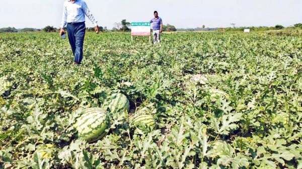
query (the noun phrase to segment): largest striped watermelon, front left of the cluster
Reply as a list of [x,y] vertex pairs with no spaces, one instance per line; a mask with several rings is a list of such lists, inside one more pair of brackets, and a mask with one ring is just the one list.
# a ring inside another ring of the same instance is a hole
[[96,141],[104,137],[109,127],[110,115],[101,108],[88,108],[82,112],[82,115],[73,125],[78,130],[79,139],[88,142]]

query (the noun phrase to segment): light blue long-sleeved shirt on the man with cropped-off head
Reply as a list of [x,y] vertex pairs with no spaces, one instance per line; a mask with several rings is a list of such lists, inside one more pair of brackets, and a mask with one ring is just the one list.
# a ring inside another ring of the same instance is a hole
[[70,0],[65,1],[61,28],[64,28],[66,23],[85,22],[85,15],[94,24],[94,26],[98,26],[98,21],[95,20],[91,14],[86,2],[82,0],[75,0],[74,3],[71,3]]

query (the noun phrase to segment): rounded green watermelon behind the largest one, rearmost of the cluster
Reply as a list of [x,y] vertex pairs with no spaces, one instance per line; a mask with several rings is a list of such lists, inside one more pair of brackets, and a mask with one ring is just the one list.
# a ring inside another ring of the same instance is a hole
[[112,114],[121,114],[129,111],[129,100],[121,93],[114,93],[111,95],[111,102],[108,105]]

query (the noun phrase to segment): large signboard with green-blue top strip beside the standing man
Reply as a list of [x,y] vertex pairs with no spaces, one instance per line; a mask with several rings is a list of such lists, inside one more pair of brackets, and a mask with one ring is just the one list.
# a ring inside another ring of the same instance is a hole
[[150,23],[148,22],[131,23],[131,36],[150,36]]

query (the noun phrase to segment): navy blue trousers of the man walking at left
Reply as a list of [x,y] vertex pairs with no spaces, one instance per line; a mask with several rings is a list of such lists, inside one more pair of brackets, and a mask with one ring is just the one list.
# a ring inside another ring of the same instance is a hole
[[85,37],[85,22],[67,24],[68,40],[74,56],[74,62],[81,64],[83,59],[83,45]]

